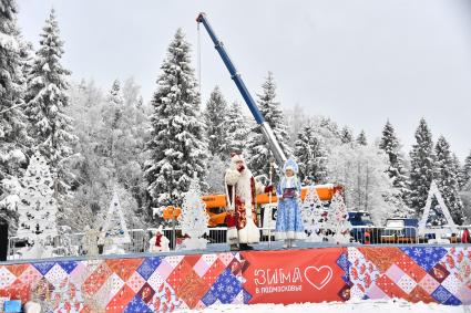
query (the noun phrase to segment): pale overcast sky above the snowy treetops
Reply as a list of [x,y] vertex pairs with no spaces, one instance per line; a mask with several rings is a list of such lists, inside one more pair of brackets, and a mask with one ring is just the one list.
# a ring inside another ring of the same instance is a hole
[[[134,76],[145,100],[177,28],[193,44],[205,11],[254,94],[272,71],[284,106],[330,116],[371,142],[386,119],[409,152],[420,117],[462,159],[471,149],[471,1],[20,0],[19,24],[38,46],[54,7],[74,80],[107,90]],[[205,31],[202,94],[242,100]],[[194,62],[196,66],[196,62]]]

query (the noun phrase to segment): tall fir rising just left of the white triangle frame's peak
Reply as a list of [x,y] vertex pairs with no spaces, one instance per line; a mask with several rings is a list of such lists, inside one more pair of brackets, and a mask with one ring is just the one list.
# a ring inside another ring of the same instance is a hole
[[433,179],[433,142],[432,134],[424,118],[416,131],[416,144],[410,152],[410,196],[409,207],[421,216]]

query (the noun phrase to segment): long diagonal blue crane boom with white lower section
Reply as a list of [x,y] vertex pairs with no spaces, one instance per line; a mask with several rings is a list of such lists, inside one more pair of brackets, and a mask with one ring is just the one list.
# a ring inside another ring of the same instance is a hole
[[275,137],[275,134],[273,133],[272,127],[269,124],[265,121],[264,116],[262,115],[260,111],[258,109],[257,105],[255,104],[254,98],[252,97],[250,93],[248,92],[247,87],[244,84],[244,81],[240,77],[240,74],[237,72],[234,63],[231,61],[229,55],[227,54],[226,50],[224,49],[224,44],[216,36],[216,34],[213,31],[213,28],[211,27],[206,14],[199,13],[196,18],[196,22],[203,23],[204,28],[206,29],[207,33],[211,36],[211,40],[214,42],[214,48],[216,48],[217,52],[221,55],[221,59],[223,59],[224,64],[226,65],[227,70],[231,73],[231,77],[233,79],[234,83],[236,84],[238,91],[240,92],[242,96],[244,97],[245,103],[247,104],[248,108],[252,112],[252,115],[254,116],[255,121],[262,128],[262,133],[265,135],[265,138],[267,139],[270,150],[275,156],[276,163],[278,166],[283,166],[283,164],[286,161],[285,153],[283,152],[281,147],[279,146],[278,140]]

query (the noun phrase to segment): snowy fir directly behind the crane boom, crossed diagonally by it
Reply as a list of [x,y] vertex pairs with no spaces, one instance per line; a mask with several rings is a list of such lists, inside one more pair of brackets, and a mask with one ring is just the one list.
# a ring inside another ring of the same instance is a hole
[[[281,149],[288,157],[291,155],[289,147],[289,138],[286,127],[285,116],[280,107],[280,103],[276,101],[276,84],[273,74],[268,72],[268,76],[262,85],[262,94],[258,96],[258,108],[265,121],[270,125],[275,137],[277,138]],[[269,173],[269,163],[273,154],[269,149],[268,142],[262,133],[260,127],[257,125],[252,129],[253,136],[248,143],[248,167],[254,175],[267,175]]]

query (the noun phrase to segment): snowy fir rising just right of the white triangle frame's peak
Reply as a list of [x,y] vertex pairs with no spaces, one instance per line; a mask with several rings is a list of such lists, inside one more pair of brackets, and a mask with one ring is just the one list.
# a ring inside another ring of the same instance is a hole
[[462,225],[464,221],[463,204],[459,196],[455,164],[450,150],[450,144],[443,136],[438,138],[434,153],[433,179],[437,181],[453,221],[457,225]]

